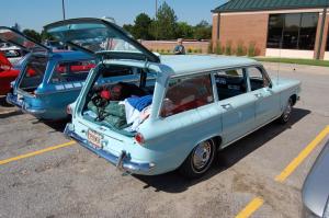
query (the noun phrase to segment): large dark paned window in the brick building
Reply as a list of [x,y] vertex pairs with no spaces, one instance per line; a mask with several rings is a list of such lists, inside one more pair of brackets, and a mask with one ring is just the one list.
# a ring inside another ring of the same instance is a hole
[[271,14],[268,48],[313,50],[318,13]]

